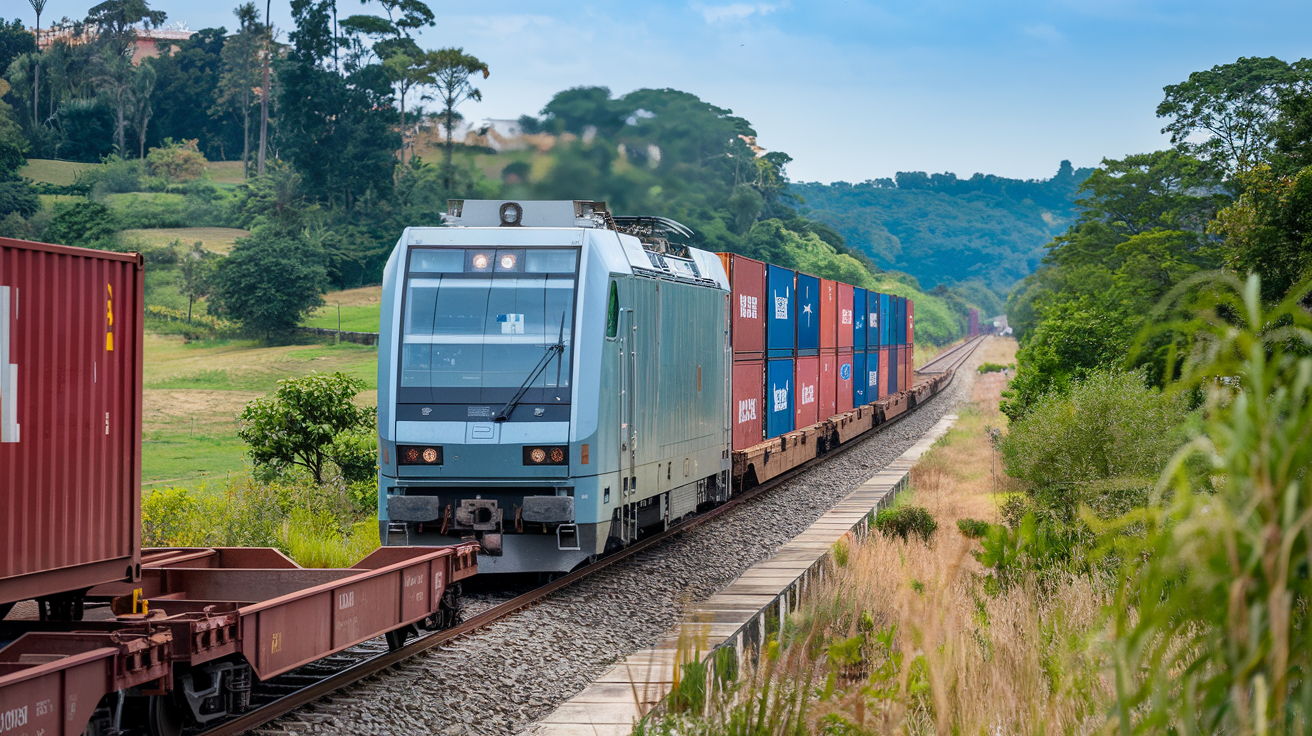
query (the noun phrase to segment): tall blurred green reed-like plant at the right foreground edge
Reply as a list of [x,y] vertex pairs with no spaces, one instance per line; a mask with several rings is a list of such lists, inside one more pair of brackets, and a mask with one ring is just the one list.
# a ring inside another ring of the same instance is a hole
[[1211,277],[1195,316],[1172,325],[1187,341],[1168,365],[1181,366],[1179,388],[1206,396],[1207,419],[1156,502],[1123,522],[1147,537],[1122,550],[1131,563],[1110,606],[1109,731],[1312,728],[1309,287],[1267,311],[1256,276]]

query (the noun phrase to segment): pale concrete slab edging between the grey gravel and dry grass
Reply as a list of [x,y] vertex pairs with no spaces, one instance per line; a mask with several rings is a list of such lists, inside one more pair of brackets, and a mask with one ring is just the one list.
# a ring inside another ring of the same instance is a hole
[[[768,627],[782,627],[807,589],[824,576],[834,543],[870,531],[874,512],[905,489],[911,468],[951,429],[945,415],[896,460],[862,483],[806,531],[769,559],[743,572],[728,586],[691,606],[685,623],[656,647],[625,657],[583,693],[569,698],[526,736],[627,736],[634,723],[669,694],[676,670],[698,640],[702,660],[728,649],[740,661],[757,653]],[[705,642],[705,643],[702,643]]]

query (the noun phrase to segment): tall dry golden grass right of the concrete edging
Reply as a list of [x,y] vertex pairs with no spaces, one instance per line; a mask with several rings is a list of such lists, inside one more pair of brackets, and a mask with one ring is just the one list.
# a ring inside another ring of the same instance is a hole
[[[975,361],[1013,362],[992,338]],[[917,463],[911,501],[938,521],[930,544],[878,533],[790,615],[761,666],[695,712],[642,733],[1089,733],[1114,702],[1098,631],[1107,592],[1084,579],[1001,586],[972,556],[962,518],[998,520],[1015,491],[985,432],[1002,426],[1005,379],[975,378],[959,421]],[[996,475],[994,475],[996,470]],[[714,690],[714,689],[712,689]]]

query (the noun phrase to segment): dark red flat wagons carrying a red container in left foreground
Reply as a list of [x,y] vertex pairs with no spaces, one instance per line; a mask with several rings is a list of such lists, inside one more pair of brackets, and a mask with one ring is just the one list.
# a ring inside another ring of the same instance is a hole
[[178,736],[375,636],[450,626],[478,547],[346,569],[140,546],[143,262],[0,239],[0,733]]

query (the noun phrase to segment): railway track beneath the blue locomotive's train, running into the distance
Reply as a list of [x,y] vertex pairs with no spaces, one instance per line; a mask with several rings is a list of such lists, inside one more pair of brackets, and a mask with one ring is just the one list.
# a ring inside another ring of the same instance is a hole
[[[937,356],[934,359],[929,361],[917,373],[947,373],[953,371],[955,378],[955,370],[964,363],[975,349],[983,342],[985,336],[977,336],[970,338],[960,345],[956,345],[942,354]],[[951,380],[949,382],[949,384]],[[943,386],[946,388],[947,384]],[[867,437],[883,433],[886,429],[895,426],[903,419],[912,416],[914,411],[904,412],[890,421],[880,424],[874,428]],[[260,728],[261,726],[283,716],[302,706],[314,703],[315,701],[331,695],[337,690],[341,690],[349,685],[357,684],[365,678],[379,674],[380,672],[396,665],[404,660],[408,660],[416,655],[420,655],[434,647],[454,642],[475,631],[479,631],[505,617],[509,617],[517,611],[527,609],[544,598],[550,597],[552,593],[568,588],[569,585],[594,575],[602,569],[610,568],[617,563],[635,558],[644,551],[651,550],[661,544],[663,542],[673,538],[674,535],[684,534],[690,529],[695,529],[705,525],[712,520],[716,520],[732,510],[758,499],[782,484],[798,478],[799,475],[815,468],[816,466],[837,458],[850,450],[851,447],[859,445],[861,442],[844,442],[833,450],[825,453],[821,457],[813,458],[792,470],[789,470],[770,480],[756,485],[739,496],[735,496],[727,504],[716,506],[707,510],[706,513],[698,514],[678,526],[648,537],[619,552],[610,556],[602,558],[596,563],[580,568],[569,575],[565,575],[552,583],[541,585],[520,594],[509,601],[500,605],[495,605],[484,611],[478,613],[468,621],[462,622],[458,626],[446,628],[443,631],[432,632],[424,635],[419,639],[405,643],[403,647],[392,651],[380,640],[366,642],[340,652],[325,660],[320,660],[299,668],[294,672],[283,674],[281,677],[273,678],[269,682],[264,682],[256,686],[252,693],[252,710],[241,714],[240,716],[224,720],[215,724],[207,729],[197,732],[195,736],[228,736],[245,733],[248,731]]]

